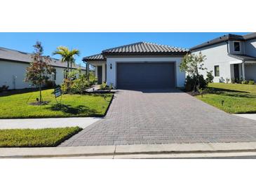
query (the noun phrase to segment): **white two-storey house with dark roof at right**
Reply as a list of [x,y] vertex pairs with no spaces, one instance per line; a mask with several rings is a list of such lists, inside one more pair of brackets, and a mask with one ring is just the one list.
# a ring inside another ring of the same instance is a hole
[[[206,55],[204,67],[213,71],[214,82],[226,79],[256,81],[256,33],[244,36],[227,34],[190,49]],[[206,76],[206,71],[202,71]]]

